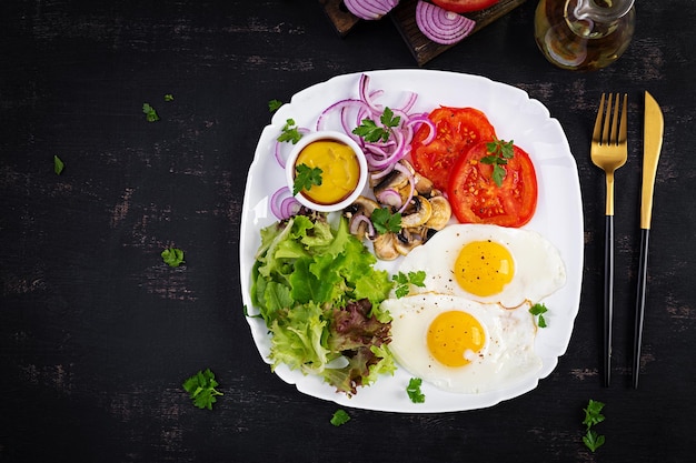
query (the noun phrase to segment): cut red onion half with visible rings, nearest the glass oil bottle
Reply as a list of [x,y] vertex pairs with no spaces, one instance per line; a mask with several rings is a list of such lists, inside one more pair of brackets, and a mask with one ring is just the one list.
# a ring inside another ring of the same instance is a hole
[[422,0],[416,4],[416,23],[424,36],[445,46],[457,43],[476,26],[476,21],[469,18]]

